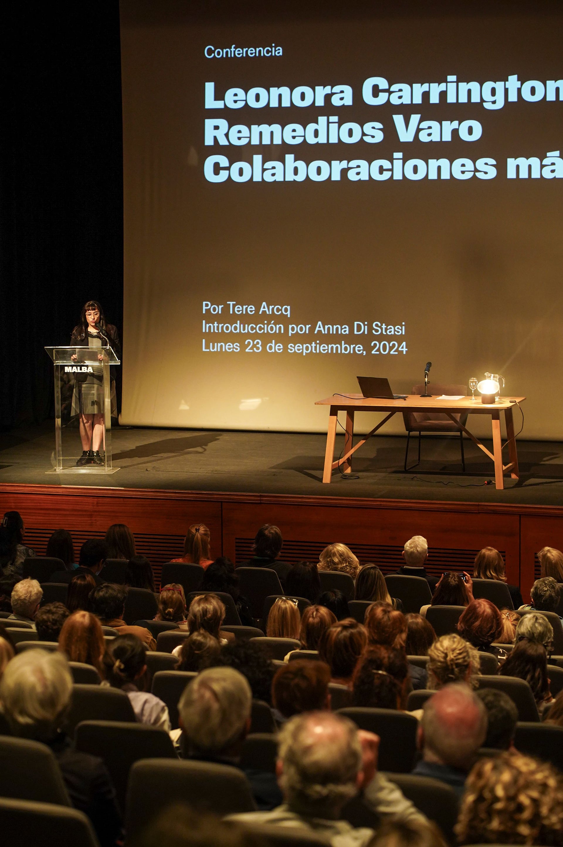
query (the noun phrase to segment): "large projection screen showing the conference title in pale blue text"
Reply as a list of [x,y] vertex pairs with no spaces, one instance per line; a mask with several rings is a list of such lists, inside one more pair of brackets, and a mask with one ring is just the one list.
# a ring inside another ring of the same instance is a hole
[[322,431],[432,361],[560,439],[563,17],[396,5],[122,3],[122,423]]

